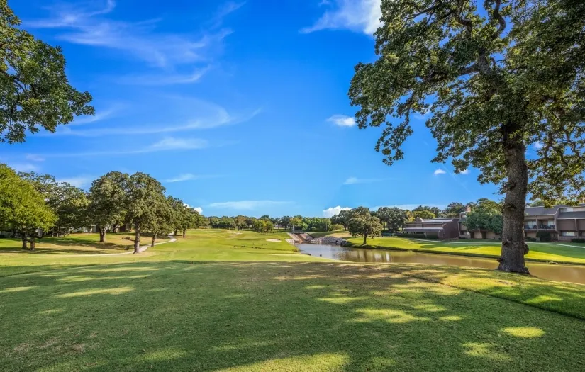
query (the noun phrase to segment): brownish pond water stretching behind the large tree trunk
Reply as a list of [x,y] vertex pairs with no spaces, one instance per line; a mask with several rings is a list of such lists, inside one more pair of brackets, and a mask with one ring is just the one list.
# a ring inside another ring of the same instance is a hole
[[[482,269],[496,269],[498,266],[495,259],[455,256],[454,254],[347,248],[329,244],[298,244],[296,247],[299,247],[302,253],[311,254],[311,256],[351,262],[450,265]],[[537,262],[527,262],[526,266],[530,269],[530,274],[539,278],[585,284],[585,266],[540,264]]]

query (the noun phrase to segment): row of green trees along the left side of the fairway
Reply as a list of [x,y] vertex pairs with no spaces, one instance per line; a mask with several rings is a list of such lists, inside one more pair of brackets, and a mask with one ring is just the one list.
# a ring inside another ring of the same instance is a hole
[[206,219],[183,201],[165,195],[159,181],[145,173],[112,171],[92,182],[89,192],[59,182],[49,174],[16,173],[0,164],[0,230],[19,235],[23,249],[35,249],[35,239],[46,234],[67,234],[95,225],[100,242],[106,232],[129,225],[135,234],[155,239],[206,224]]

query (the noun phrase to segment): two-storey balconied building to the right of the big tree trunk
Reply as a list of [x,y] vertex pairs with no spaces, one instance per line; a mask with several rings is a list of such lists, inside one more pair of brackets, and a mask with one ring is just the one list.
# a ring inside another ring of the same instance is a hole
[[550,232],[553,240],[570,242],[585,237],[585,204],[575,206],[555,205],[552,208],[526,207],[524,233],[537,237],[540,231]]

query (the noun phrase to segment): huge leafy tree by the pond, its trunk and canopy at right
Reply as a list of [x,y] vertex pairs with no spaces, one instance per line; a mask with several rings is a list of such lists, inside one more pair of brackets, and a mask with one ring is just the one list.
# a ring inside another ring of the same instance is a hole
[[403,158],[411,115],[430,111],[433,161],[475,167],[506,193],[498,269],[528,273],[528,190],[545,202],[585,196],[585,1],[477,3],[382,1],[379,59],[357,64],[349,96],[360,128],[386,125],[386,164]]

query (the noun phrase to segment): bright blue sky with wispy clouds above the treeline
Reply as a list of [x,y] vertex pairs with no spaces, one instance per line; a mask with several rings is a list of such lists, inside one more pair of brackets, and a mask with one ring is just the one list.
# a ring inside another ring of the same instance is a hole
[[[205,215],[330,215],[338,208],[444,206],[496,198],[477,171],[433,164],[417,117],[406,159],[374,151],[347,89],[374,60],[379,0],[11,1],[60,45],[96,115],[1,145],[0,161],[88,188],[146,172]],[[338,207],[338,208],[336,208]]]

